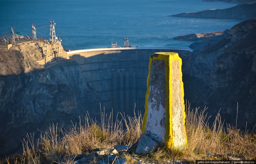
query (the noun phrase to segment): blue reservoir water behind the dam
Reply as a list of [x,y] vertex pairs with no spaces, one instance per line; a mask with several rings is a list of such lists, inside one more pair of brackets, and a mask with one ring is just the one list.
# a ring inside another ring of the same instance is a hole
[[178,18],[168,15],[223,9],[236,4],[201,0],[0,0],[0,34],[19,31],[49,38],[50,19],[64,48],[76,50],[124,46],[188,47],[172,37],[230,29],[244,19]]

